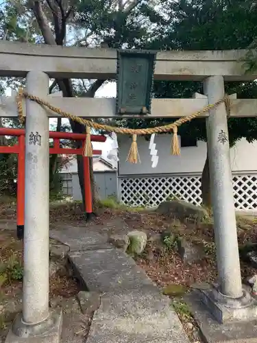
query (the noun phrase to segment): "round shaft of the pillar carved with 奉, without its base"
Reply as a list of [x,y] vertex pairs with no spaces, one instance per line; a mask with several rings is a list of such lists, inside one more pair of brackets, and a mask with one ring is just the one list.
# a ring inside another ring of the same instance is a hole
[[[208,78],[204,82],[204,93],[208,96],[209,104],[221,99],[225,95],[223,77]],[[230,167],[228,119],[224,103],[210,110],[210,115],[206,119],[206,133],[221,292],[225,296],[237,298],[242,295],[242,283]]]

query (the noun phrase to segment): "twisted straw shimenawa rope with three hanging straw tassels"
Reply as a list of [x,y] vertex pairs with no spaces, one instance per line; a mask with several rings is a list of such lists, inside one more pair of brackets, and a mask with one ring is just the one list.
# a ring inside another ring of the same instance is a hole
[[84,156],[93,155],[92,145],[90,141],[90,128],[95,128],[97,130],[105,130],[108,132],[115,132],[115,133],[120,133],[120,134],[131,134],[132,145],[130,147],[129,154],[127,155],[127,161],[129,161],[130,163],[138,163],[138,161],[140,163],[138,147],[136,143],[136,138],[138,134],[144,135],[144,134],[153,134],[153,133],[163,133],[163,132],[171,132],[172,130],[173,137],[172,137],[172,143],[171,143],[171,154],[179,155],[180,145],[178,141],[178,126],[182,125],[183,123],[186,123],[187,121],[191,121],[192,119],[195,119],[196,117],[199,117],[199,115],[208,112],[209,110],[219,106],[219,104],[223,102],[225,103],[227,113],[229,114],[230,112],[230,99],[228,95],[225,95],[222,99],[219,99],[217,102],[215,102],[215,104],[210,104],[204,107],[202,110],[199,110],[193,113],[192,115],[188,115],[187,117],[181,117],[180,119],[174,121],[171,124],[167,124],[163,126],[156,126],[155,128],[145,128],[145,129],[118,128],[117,126],[109,126],[106,124],[94,123],[93,121],[90,121],[88,119],[83,119],[81,117],[71,115],[71,113],[65,112],[61,110],[60,108],[54,107],[51,104],[49,104],[49,102],[46,102],[45,100],[40,99],[39,97],[36,97],[35,95],[28,94],[22,88],[20,88],[19,93],[16,97],[16,102],[17,102],[17,107],[18,107],[19,119],[21,123],[24,123],[23,106],[22,106],[23,98],[37,102],[39,105],[47,107],[49,110],[51,110],[54,113],[57,113],[58,115],[61,115],[62,117],[71,119],[73,121],[77,121],[77,123],[80,123],[86,126],[86,143],[84,147]]

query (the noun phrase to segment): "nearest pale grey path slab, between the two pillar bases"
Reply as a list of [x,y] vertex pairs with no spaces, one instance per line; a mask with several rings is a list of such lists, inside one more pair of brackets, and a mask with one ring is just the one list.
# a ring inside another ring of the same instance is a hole
[[104,294],[87,343],[188,343],[169,298],[158,289]]

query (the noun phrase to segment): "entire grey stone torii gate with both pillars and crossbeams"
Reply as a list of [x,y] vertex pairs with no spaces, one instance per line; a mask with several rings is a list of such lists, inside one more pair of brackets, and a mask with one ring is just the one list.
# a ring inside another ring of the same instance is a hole
[[[243,62],[238,62],[245,52],[158,53],[156,80],[200,80],[204,82],[204,95],[195,95],[193,99],[153,99],[147,117],[190,115],[224,97],[224,80],[254,80],[257,74],[246,75]],[[117,51],[112,49],[0,43],[1,76],[27,77],[27,93],[79,117],[117,117],[115,99],[47,97],[49,77],[105,80],[115,78],[116,73]],[[230,116],[256,117],[256,105],[256,99],[232,96]],[[23,111],[26,115],[23,312],[14,321],[6,342],[59,342],[62,316],[60,312],[49,311],[48,172],[49,117],[58,115],[29,99],[23,102]],[[17,115],[15,97],[1,97],[0,117]],[[219,285],[202,292],[202,300],[220,322],[251,320],[256,307],[241,283],[225,104],[219,104],[202,117],[206,117],[219,272]],[[40,134],[40,143],[32,144],[29,135],[36,132]],[[40,211],[35,211],[35,204]]]

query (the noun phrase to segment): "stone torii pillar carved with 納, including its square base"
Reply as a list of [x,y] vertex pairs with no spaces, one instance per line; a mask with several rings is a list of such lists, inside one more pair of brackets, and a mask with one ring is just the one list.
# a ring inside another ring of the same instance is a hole
[[[27,92],[46,97],[48,75],[27,74]],[[5,342],[60,342],[62,311],[49,312],[49,120],[26,101],[23,311]]]

